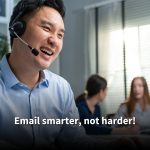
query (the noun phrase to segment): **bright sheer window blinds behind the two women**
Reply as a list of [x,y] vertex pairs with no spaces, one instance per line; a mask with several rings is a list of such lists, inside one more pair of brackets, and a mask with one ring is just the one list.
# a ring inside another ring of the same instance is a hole
[[124,1],[124,29],[121,2],[99,7],[99,74],[108,81],[104,114],[115,113],[125,100],[123,42],[125,43],[127,95],[131,80],[144,76],[150,87],[150,1]]

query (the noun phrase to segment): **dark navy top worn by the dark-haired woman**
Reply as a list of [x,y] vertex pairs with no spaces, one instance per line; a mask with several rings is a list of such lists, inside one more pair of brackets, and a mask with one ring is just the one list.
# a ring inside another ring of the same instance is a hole
[[[83,124],[87,134],[111,134],[112,128],[101,124],[101,112],[98,104],[95,105],[95,110],[93,113],[89,110],[85,100],[81,100],[80,102],[78,102],[77,107],[79,110],[81,123]],[[99,118],[99,124],[84,124],[84,119],[90,120],[96,118]]]

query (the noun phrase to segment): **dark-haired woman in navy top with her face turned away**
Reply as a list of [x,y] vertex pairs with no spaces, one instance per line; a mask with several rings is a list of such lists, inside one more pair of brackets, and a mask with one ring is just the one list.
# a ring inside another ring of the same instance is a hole
[[80,121],[87,134],[136,134],[138,127],[132,128],[111,128],[107,125],[84,124],[84,119],[101,120],[99,102],[102,102],[107,93],[107,81],[95,74],[89,77],[86,84],[86,92],[76,98],[76,105],[79,110]]

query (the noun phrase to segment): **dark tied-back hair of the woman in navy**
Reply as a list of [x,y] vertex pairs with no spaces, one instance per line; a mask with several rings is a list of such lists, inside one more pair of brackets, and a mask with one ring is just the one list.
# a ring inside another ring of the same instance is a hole
[[76,98],[76,103],[96,95],[100,90],[105,90],[107,81],[98,74],[91,75],[86,83],[85,92]]

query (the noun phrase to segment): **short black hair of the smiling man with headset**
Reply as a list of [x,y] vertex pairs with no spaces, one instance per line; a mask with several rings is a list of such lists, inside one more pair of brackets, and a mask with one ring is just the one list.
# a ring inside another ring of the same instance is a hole
[[[54,8],[64,19],[65,7],[63,0],[20,0],[13,9],[9,27],[11,27],[15,22],[22,20],[24,16],[31,14],[37,8],[40,8],[42,6]],[[11,46],[13,44],[13,38],[14,37],[10,36]]]

